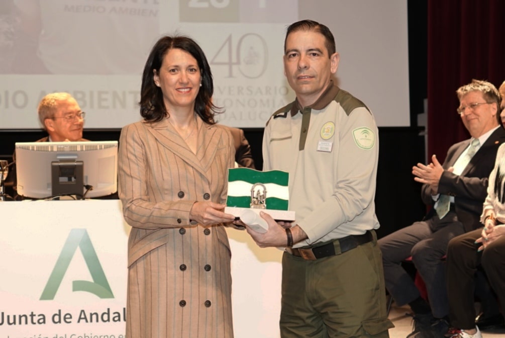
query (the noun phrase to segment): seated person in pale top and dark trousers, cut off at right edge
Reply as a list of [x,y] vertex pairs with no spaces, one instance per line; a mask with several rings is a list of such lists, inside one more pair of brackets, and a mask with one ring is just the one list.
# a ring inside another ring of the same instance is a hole
[[[505,120],[505,81],[501,94],[501,120]],[[505,305],[505,146],[498,149],[494,169],[489,176],[487,198],[484,202],[480,227],[451,239],[447,248],[447,295],[452,330],[462,338],[482,338],[481,330],[503,327],[499,311],[484,313],[475,319],[475,274],[483,268],[498,295],[501,307]],[[482,225],[481,224],[481,225]],[[479,286],[482,287],[482,286]]]

